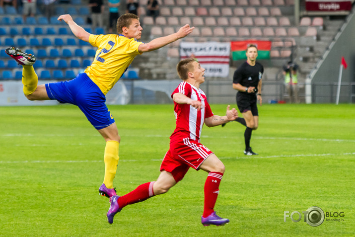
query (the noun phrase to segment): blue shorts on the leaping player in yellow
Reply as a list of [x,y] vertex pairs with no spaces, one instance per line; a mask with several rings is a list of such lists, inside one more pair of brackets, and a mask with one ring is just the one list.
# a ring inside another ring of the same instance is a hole
[[105,104],[105,95],[86,73],[78,74],[69,81],[48,83],[46,90],[50,99],[77,105],[97,130],[115,122]]

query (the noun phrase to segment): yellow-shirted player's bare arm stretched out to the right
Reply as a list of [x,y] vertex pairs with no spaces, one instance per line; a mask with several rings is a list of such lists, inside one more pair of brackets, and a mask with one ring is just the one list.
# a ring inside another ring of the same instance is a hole
[[195,27],[190,27],[190,25],[186,24],[183,27],[181,27],[179,29],[179,31],[176,33],[153,39],[152,41],[150,41],[149,43],[146,43],[146,44],[141,44],[138,47],[138,51],[140,53],[144,53],[144,52],[149,52],[149,51],[159,49],[159,48],[164,47],[165,45],[170,44],[178,39],[186,37],[194,29],[195,29]]

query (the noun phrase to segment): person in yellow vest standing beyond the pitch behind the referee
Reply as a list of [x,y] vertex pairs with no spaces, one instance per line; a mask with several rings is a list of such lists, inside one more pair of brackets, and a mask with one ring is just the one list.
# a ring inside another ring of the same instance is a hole
[[298,98],[298,65],[289,61],[283,67],[284,83],[291,103],[299,103]]

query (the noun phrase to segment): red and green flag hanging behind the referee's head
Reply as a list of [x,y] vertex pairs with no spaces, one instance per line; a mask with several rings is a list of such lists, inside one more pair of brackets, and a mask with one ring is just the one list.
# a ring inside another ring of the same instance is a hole
[[230,51],[232,51],[233,60],[247,59],[245,53],[250,44],[254,44],[258,48],[257,59],[270,59],[271,41],[243,40],[230,42]]

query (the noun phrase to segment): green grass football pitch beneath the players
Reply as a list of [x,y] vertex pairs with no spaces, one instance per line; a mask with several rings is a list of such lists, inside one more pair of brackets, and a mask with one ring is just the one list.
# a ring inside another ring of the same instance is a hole
[[[211,107],[225,114],[226,105]],[[173,105],[109,109],[122,139],[114,184],[123,195],[158,177],[175,128]],[[0,107],[0,236],[354,236],[355,105],[265,104],[259,113],[251,140],[259,156],[243,155],[239,123],[202,132],[202,143],[226,166],[215,210],[228,225],[201,225],[207,173],[193,169],[109,225],[108,199],[98,194],[105,142],[84,115],[71,105]],[[303,214],[284,222],[284,211],[312,206],[344,217],[318,227]]]

